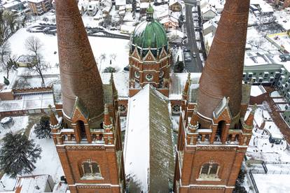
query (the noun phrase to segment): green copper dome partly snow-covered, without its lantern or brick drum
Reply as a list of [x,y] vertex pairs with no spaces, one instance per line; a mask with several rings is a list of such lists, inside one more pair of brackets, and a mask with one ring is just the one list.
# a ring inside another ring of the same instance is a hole
[[156,20],[144,21],[137,25],[132,35],[132,46],[141,49],[167,49],[166,31]]

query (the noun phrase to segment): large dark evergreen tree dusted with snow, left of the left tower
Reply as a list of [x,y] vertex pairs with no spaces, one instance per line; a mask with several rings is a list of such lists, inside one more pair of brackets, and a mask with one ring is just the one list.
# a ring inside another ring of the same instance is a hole
[[29,141],[24,134],[6,134],[0,149],[0,170],[16,178],[23,173],[31,173],[36,159],[41,156],[41,148]]

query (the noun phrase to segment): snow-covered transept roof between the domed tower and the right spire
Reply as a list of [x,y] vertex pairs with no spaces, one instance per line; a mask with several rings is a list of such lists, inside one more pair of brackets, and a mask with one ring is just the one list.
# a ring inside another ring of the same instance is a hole
[[[189,101],[196,100],[196,92],[199,87],[201,73],[191,73],[191,87],[189,90]],[[170,84],[170,100],[181,100],[182,92],[184,91],[184,85],[186,83],[187,73],[172,73]]]

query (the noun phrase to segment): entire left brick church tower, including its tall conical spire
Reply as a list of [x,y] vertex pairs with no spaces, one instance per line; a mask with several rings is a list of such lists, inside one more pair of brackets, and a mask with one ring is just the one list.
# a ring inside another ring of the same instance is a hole
[[118,94],[104,85],[75,0],[57,0],[62,106],[50,114],[53,140],[69,190],[124,192]]

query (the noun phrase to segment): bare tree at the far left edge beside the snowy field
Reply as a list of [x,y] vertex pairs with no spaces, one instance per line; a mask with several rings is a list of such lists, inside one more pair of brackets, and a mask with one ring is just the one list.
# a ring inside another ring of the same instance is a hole
[[0,59],[1,59],[1,66],[6,69],[7,72],[7,79],[9,78],[9,71],[15,70],[17,68],[17,63],[15,59],[11,57],[11,44],[6,41],[0,49]]

